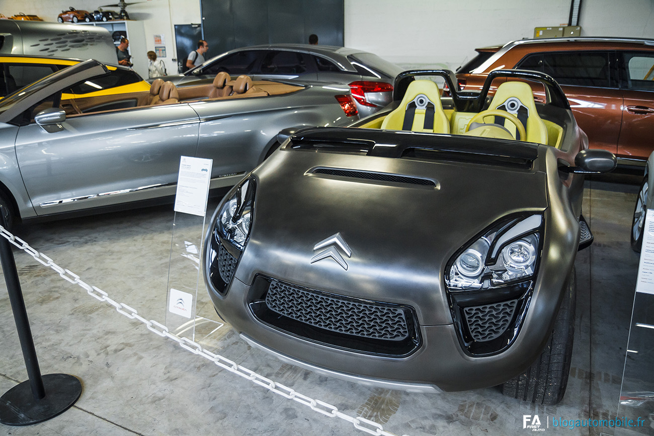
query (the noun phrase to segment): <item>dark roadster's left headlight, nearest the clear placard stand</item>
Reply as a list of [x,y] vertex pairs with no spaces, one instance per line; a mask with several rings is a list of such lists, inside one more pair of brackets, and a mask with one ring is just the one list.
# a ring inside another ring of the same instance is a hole
[[218,214],[216,224],[220,235],[239,251],[243,251],[250,235],[253,199],[254,183],[245,180],[233,196],[222,205]]

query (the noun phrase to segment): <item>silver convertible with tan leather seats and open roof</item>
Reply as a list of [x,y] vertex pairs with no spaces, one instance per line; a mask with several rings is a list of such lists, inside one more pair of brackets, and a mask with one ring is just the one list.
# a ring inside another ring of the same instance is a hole
[[[181,156],[213,159],[211,187],[232,186],[288,126],[356,120],[347,87],[232,80],[177,92],[92,59],[0,100],[1,201],[23,219],[175,195]],[[124,92],[119,92],[120,89]]]

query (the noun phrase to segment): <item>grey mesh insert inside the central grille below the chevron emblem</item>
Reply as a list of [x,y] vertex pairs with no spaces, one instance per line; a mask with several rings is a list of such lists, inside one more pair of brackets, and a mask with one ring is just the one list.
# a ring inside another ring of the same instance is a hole
[[351,301],[277,280],[268,288],[266,305],[293,320],[346,335],[394,341],[409,336],[401,307]]

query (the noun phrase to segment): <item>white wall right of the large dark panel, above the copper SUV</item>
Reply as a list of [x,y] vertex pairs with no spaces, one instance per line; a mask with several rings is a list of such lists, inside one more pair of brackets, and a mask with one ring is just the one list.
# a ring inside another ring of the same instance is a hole
[[[345,46],[404,67],[456,69],[477,47],[567,24],[570,0],[345,0]],[[654,39],[654,1],[583,0],[582,36]]]

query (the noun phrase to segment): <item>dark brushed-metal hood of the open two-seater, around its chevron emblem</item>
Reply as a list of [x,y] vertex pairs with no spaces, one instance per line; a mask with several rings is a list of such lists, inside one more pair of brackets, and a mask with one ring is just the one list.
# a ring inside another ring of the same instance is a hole
[[[451,324],[442,280],[457,250],[508,214],[548,205],[545,159],[508,168],[289,148],[253,173],[252,230],[235,277],[410,301],[421,324]],[[314,246],[336,233],[351,249],[337,248],[347,270],[332,258],[311,263],[322,251]]]

